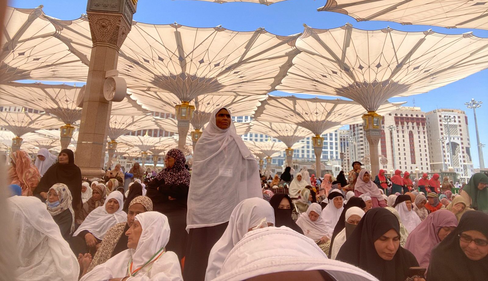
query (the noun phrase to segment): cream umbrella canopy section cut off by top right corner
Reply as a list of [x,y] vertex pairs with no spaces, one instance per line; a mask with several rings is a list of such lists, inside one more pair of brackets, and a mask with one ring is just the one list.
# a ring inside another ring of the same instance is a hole
[[318,10],[346,14],[358,22],[488,29],[487,9],[486,0],[327,0]]

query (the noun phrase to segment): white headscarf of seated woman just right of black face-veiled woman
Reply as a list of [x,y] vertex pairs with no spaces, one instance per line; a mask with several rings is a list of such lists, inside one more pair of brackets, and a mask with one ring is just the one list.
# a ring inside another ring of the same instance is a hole
[[[319,215],[319,218],[317,218],[316,221],[310,220],[308,215],[310,215],[311,211],[314,211]],[[327,235],[327,226],[325,224],[325,218],[322,215],[322,207],[317,203],[312,203],[310,206],[308,206],[306,212],[300,214],[296,224],[300,226],[306,237],[311,238],[316,242]]]

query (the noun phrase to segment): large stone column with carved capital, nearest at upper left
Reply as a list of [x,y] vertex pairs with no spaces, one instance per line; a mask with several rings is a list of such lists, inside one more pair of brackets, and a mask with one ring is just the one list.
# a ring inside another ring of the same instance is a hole
[[117,69],[119,50],[131,29],[137,0],[88,0],[93,47],[83,96],[75,163],[83,176],[103,175],[112,103],[103,96],[105,73]]

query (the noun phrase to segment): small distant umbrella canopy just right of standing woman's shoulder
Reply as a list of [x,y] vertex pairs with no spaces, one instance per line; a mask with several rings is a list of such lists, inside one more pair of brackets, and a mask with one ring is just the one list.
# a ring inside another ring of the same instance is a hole
[[[285,120],[283,120],[285,121]],[[300,126],[288,123],[265,122],[253,120],[252,131],[264,133],[281,140],[287,147],[291,147],[296,142],[308,136],[313,136],[309,130]]]

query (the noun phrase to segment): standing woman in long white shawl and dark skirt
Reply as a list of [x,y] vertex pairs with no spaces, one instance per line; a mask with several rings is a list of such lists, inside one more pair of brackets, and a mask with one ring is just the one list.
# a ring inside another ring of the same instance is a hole
[[[232,183],[232,184],[229,184]],[[222,236],[234,208],[244,199],[262,198],[259,167],[245,146],[227,108],[216,108],[195,146],[188,192],[189,232],[185,280],[201,281],[213,245]],[[215,198],[219,204],[215,208]]]

